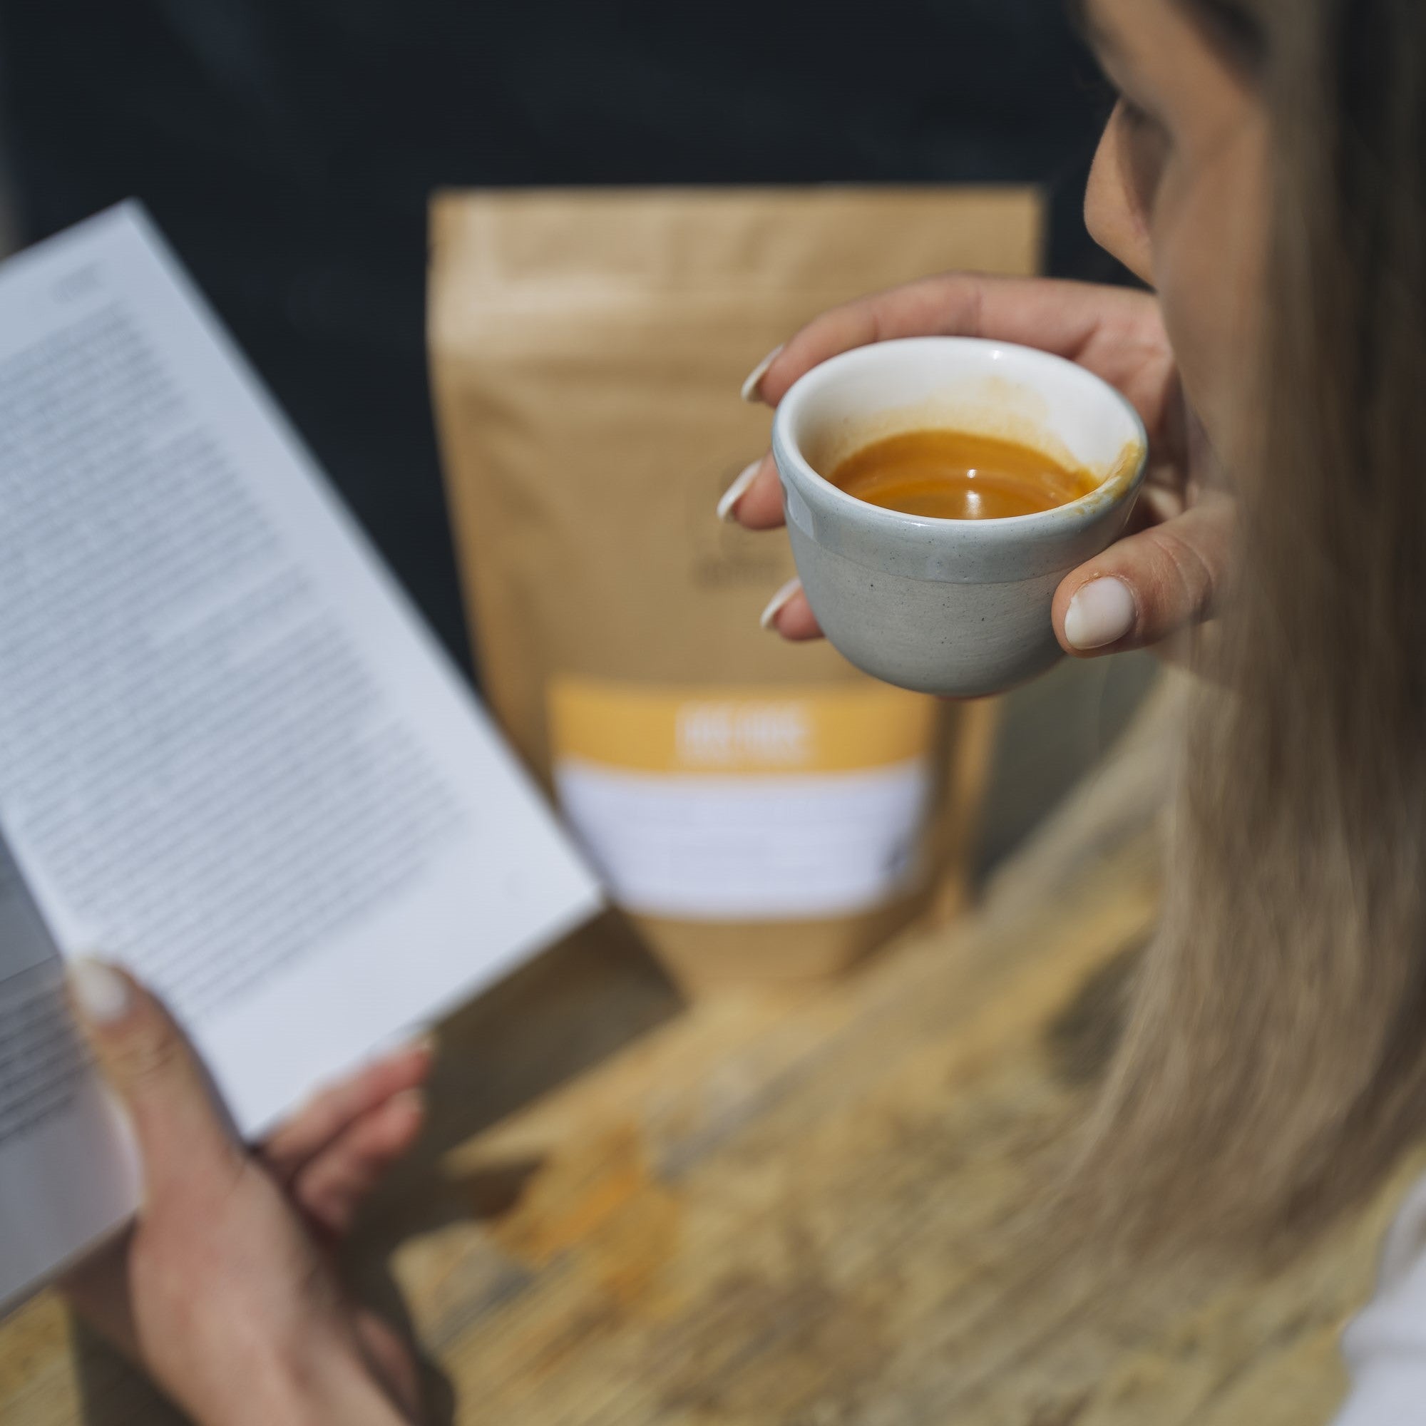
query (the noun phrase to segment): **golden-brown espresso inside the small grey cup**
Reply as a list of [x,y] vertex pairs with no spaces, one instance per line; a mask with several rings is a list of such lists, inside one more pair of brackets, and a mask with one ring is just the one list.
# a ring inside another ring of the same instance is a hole
[[1101,476],[1035,446],[968,431],[873,441],[830,481],[868,505],[943,520],[1002,520],[1082,499]]

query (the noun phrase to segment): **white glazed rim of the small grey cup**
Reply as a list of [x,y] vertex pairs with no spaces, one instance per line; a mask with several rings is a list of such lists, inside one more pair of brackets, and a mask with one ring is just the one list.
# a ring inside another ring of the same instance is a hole
[[[904,351],[910,347],[930,347],[940,351],[975,348],[985,352],[991,359],[997,354],[1004,352],[1015,358],[1030,358],[1044,365],[1068,366],[1075,372],[1077,381],[1087,381],[1094,386],[1099,386],[1128,415],[1129,425],[1139,438],[1139,461],[1134,476],[1125,481],[1122,489],[1109,499],[1105,499],[1104,483],[1101,482],[1085,495],[1064,505],[1055,505],[1048,511],[1037,511],[1032,515],[1001,515],[983,520],[963,520],[944,515],[910,515],[906,511],[888,509],[884,505],[871,505],[856,495],[848,495],[841,486],[833,485],[831,481],[813,468],[811,462],[803,455],[800,443],[791,438],[791,422],[811,391],[836,371],[846,366],[868,365],[884,359],[893,351]],[[781,471],[781,456],[786,453],[799,476],[810,481],[823,499],[830,498],[834,506],[843,508],[848,515],[856,513],[861,519],[871,518],[877,522],[884,522],[890,528],[900,528],[903,530],[955,530],[960,533],[978,530],[983,539],[994,539],[995,532],[1005,535],[1034,535],[1040,529],[1044,529],[1045,532],[1055,530],[1064,533],[1067,526],[1088,526],[1108,512],[1118,509],[1125,501],[1138,495],[1148,473],[1149,434],[1144,425],[1144,418],[1124,392],[1111,386],[1102,376],[1095,375],[1095,372],[1065,356],[1041,351],[1038,347],[1025,347],[1021,342],[1002,342],[984,337],[897,337],[838,352],[836,356],[829,356],[827,361],[819,362],[810,371],[803,372],[777,405],[777,414],[773,419],[773,452],[779,471]]]

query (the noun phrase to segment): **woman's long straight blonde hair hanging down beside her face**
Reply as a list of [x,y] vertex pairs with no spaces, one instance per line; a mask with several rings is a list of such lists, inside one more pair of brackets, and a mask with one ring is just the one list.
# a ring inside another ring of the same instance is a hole
[[1181,3],[1273,123],[1263,456],[1087,1171],[1261,1241],[1426,1128],[1426,6]]

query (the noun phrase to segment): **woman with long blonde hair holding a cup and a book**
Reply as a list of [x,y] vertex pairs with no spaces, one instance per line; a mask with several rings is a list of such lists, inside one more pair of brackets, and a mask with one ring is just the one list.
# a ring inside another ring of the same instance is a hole
[[[1155,295],[935,278],[813,322],[749,392],[776,404],[848,347],[953,332],[1067,355],[1145,416],[1144,528],[1065,580],[1058,636],[1094,656],[1226,617],[1188,650],[1209,679],[1185,737],[1166,914],[1095,1118],[1085,1199],[1139,1242],[1286,1238],[1376,1184],[1426,1118],[1426,7],[1084,10],[1122,96],[1088,217]],[[779,523],[770,462],[722,509]],[[794,588],[766,620],[791,639],[817,632]],[[81,1008],[91,998],[81,983]],[[140,1333],[160,1380],[222,1423],[250,1405],[232,1383],[265,1362],[288,1415],[262,1420],[398,1419],[291,1202],[215,1129],[157,1008],[133,988],[124,1004],[94,1034],[148,1152],[127,1288],[135,1319],[173,1329],[161,1350]],[[137,1062],[157,1067],[140,1091],[113,1048],[131,1031],[151,1040]],[[221,1174],[170,1179],[163,1139],[181,1122]],[[181,1224],[234,1178],[225,1295],[170,1320],[201,1272]],[[167,1293],[145,1243],[170,1263]],[[1349,1338],[1350,1426],[1426,1420],[1410,1212],[1387,1266]],[[308,1343],[309,1366],[230,1340],[227,1293],[270,1303],[254,1320]]]

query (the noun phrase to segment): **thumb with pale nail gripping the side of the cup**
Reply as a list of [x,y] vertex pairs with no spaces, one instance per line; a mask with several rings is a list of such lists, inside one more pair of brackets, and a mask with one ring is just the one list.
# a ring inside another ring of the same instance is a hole
[[1079,657],[1142,649],[1211,619],[1232,552],[1233,502],[1209,496],[1111,545],[1055,593],[1061,646]]

